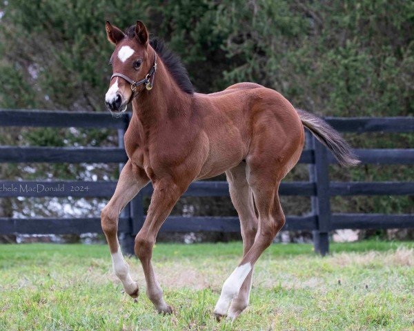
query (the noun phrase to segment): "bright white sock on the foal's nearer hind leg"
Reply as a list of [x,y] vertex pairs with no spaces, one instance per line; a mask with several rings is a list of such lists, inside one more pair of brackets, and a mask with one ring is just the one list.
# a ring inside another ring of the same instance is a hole
[[230,274],[230,277],[226,279],[221,290],[219,301],[215,306],[214,312],[216,314],[224,315],[228,310],[230,301],[239,293],[240,288],[246,279],[248,273],[252,270],[252,265],[250,262],[243,265],[239,265],[235,270]]

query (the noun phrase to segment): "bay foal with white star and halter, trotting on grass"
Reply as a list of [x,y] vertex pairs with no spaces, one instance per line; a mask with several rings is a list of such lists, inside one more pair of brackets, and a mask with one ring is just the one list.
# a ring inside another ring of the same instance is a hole
[[254,265],[285,223],[278,188],[304,148],[308,128],[342,166],[359,161],[348,143],[325,121],[295,108],[282,94],[257,83],[236,83],[221,92],[195,92],[179,58],[137,21],[125,32],[106,21],[113,74],[106,108],[115,116],[132,103],[124,135],[128,161],[115,193],[101,212],[112,266],[124,291],[139,295],[124,260],[119,213],[152,183],[148,214],[135,238],[146,294],[158,312],[172,312],[152,268],[157,232],[190,183],[226,173],[240,220],[243,257],[228,279],[213,313],[235,319],[248,306]]

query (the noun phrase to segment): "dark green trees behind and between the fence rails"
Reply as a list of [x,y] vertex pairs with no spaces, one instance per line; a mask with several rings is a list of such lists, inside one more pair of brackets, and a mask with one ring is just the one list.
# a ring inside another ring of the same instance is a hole
[[[255,81],[319,115],[413,115],[413,1],[14,0],[3,1],[0,12],[0,108],[104,111],[112,52],[104,21],[124,29],[141,19],[181,55],[199,92]],[[0,133],[0,143],[8,145],[117,142],[110,130],[2,128]],[[414,141],[412,134],[346,138],[355,147],[371,148],[408,148]],[[0,177],[115,179],[117,166],[1,165]],[[409,181],[414,172],[397,165],[333,167],[331,178]],[[308,179],[306,167],[297,166],[286,180],[291,179]],[[49,199],[47,205],[76,203],[63,200]],[[0,213],[45,213],[42,201],[3,199]],[[99,214],[104,201],[83,202],[80,210]],[[413,202],[413,197],[332,201],[336,212],[414,212]],[[310,205],[304,198],[284,198],[283,204],[287,214],[307,212]],[[175,212],[235,213],[229,199],[213,198],[182,199]]]

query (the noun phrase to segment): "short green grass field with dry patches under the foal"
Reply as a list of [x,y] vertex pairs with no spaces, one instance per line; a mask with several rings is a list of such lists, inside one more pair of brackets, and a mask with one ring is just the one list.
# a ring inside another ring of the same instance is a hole
[[0,245],[0,330],[414,330],[414,243],[272,245],[259,259],[251,303],[217,323],[213,308],[241,243],[157,244],[153,261],[168,316],[122,294],[103,245]]

